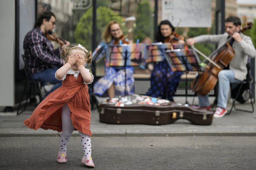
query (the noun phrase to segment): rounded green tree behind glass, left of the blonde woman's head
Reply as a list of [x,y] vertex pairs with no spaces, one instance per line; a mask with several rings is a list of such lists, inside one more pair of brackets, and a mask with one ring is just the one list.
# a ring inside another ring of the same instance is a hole
[[[121,24],[121,27],[123,31],[126,30],[126,28],[122,25],[122,21],[124,19],[117,15],[114,11],[107,7],[98,7],[96,10],[97,18],[96,18],[96,43],[99,44],[99,42],[102,41],[101,34],[104,32],[108,22],[112,20],[116,20]],[[88,9],[86,13],[80,18],[76,29],[74,31],[74,37],[77,43],[83,44],[86,46],[89,50],[92,49],[91,39],[92,39],[92,30],[93,21],[92,21],[92,8]]]

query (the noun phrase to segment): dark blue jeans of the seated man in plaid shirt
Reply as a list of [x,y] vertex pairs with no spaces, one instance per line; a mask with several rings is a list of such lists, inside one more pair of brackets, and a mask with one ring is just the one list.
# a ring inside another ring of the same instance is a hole
[[32,78],[34,80],[43,81],[46,83],[49,82],[50,84],[54,84],[52,89],[48,93],[46,93],[46,95],[43,98],[45,98],[48,94],[50,94],[51,92],[53,92],[54,90],[56,90],[57,88],[59,88],[62,85],[61,80],[57,80],[55,78],[56,71],[57,71],[57,69],[55,69],[55,68],[48,68],[46,70],[43,70],[42,72],[34,73],[32,75]]

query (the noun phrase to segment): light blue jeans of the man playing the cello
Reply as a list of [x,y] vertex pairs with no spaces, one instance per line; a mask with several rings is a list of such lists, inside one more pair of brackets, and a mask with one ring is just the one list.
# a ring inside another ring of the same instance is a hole
[[[219,92],[217,107],[227,108],[227,95],[230,83],[240,83],[241,80],[235,79],[235,73],[233,70],[221,70],[218,73],[219,79]],[[208,95],[201,96],[198,94],[199,106],[209,106]]]

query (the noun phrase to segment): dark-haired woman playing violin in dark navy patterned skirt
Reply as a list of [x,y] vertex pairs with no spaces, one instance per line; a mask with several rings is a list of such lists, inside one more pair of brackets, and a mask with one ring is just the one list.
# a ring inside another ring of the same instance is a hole
[[[174,27],[167,20],[160,22],[156,40],[162,43],[184,43],[184,38],[174,32]],[[166,60],[156,62],[150,76],[150,89],[146,95],[151,97],[161,96],[173,101],[173,95],[181,75],[182,72],[173,72]]]

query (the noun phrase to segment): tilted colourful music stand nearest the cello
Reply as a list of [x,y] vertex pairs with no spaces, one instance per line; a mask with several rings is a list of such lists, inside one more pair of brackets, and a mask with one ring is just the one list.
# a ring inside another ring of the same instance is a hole
[[166,60],[173,72],[182,71],[186,72],[185,80],[185,96],[186,104],[188,104],[188,72],[189,71],[202,71],[202,67],[199,65],[201,62],[197,53],[193,49],[176,49],[167,50]]

